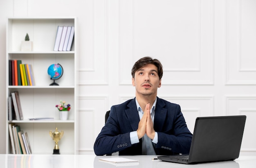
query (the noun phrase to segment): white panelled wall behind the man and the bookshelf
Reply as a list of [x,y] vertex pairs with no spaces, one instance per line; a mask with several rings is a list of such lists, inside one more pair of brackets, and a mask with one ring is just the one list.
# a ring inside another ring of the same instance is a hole
[[134,97],[130,70],[146,55],[164,66],[158,96],[181,105],[192,132],[198,116],[247,115],[241,150],[256,154],[255,9],[255,0],[1,0],[0,78],[7,17],[76,16],[80,154],[93,153],[105,112]]

